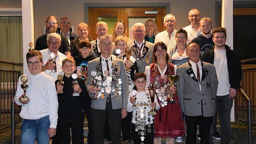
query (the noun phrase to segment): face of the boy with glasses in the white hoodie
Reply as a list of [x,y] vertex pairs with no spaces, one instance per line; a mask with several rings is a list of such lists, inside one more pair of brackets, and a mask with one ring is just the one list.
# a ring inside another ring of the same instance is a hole
[[[28,69],[33,76],[41,73],[41,67],[43,66],[44,62],[40,61],[39,56],[33,56],[33,57],[29,58],[27,60],[27,63],[28,63]],[[32,64],[32,66],[29,66],[31,64]]]

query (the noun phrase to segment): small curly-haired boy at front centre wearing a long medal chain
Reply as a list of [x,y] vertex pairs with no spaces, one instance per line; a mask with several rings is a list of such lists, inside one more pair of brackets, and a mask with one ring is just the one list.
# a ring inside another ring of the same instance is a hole
[[136,73],[134,79],[137,91],[130,92],[126,107],[128,112],[133,112],[131,126],[133,142],[134,144],[153,144],[154,115],[156,115],[155,110],[160,109],[160,105],[155,96],[155,89],[150,87],[149,90],[145,90],[146,74]]

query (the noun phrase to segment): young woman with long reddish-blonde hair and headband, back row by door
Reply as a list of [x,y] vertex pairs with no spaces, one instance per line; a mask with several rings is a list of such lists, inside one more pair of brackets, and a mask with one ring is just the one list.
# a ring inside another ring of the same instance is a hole
[[132,41],[132,39],[126,36],[126,25],[122,20],[116,22],[113,30],[112,40],[115,42],[116,37],[118,36],[126,37],[126,42]]

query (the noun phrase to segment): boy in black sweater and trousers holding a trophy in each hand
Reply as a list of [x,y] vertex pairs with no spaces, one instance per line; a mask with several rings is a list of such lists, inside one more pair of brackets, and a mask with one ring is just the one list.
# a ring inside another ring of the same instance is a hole
[[[88,101],[88,93],[84,80],[77,78],[75,61],[65,58],[62,61],[64,76],[58,75],[55,81],[58,93],[58,132],[62,143],[70,143],[70,128],[72,143],[83,143],[84,104]],[[64,82],[64,83],[63,83]]]

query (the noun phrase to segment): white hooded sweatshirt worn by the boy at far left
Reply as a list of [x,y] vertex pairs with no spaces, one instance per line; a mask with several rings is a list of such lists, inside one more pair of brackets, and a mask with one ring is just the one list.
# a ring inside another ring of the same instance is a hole
[[24,94],[20,87],[22,82],[18,81],[14,101],[21,106],[20,117],[23,119],[40,119],[49,115],[50,127],[56,128],[58,120],[58,97],[55,88],[55,83],[52,77],[41,72],[33,76],[30,72],[25,74],[28,77],[27,96],[30,99],[28,104],[22,104],[19,100],[20,96]]

